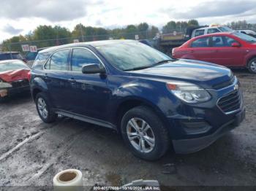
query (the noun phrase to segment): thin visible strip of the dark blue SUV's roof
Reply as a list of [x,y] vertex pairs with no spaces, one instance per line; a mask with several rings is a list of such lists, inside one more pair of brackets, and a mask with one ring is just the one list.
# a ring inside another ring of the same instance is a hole
[[41,50],[39,52],[40,53],[53,52],[55,50],[69,48],[69,47],[88,47],[88,46],[97,47],[97,46],[102,46],[107,44],[118,44],[118,43],[124,43],[124,42],[137,42],[137,41],[135,40],[102,40],[102,41],[93,41],[93,42],[79,42],[79,43],[64,44],[56,47],[50,47],[50,48],[46,48],[45,50]]

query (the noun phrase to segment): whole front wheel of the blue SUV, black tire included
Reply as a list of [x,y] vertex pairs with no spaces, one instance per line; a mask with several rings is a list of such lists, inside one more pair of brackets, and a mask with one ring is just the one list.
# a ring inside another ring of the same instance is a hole
[[162,120],[147,106],[135,107],[124,114],[121,134],[132,153],[144,160],[159,159],[170,146]]

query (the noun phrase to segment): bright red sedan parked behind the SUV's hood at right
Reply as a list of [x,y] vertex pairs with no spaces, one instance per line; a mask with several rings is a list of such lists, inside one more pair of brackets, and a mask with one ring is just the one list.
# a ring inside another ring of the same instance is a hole
[[173,58],[247,68],[256,74],[256,39],[238,32],[206,34],[174,48]]

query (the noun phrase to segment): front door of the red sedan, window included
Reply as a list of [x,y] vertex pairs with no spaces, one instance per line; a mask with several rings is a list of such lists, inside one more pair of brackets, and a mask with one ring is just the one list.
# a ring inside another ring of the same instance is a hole
[[[213,36],[215,63],[222,66],[242,66],[246,50],[243,47],[232,47],[235,39],[229,36]],[[239,44],[239,42],[237,42]]]

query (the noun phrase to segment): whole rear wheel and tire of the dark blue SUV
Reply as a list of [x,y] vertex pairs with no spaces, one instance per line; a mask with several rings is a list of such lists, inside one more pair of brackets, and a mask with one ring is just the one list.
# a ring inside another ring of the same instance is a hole
[[58,114],[53,112],[50,101],[45,93],[37,93],[35,102],[37,112],[43,122],[50,123],[56,121]]

